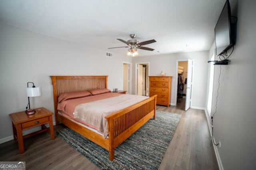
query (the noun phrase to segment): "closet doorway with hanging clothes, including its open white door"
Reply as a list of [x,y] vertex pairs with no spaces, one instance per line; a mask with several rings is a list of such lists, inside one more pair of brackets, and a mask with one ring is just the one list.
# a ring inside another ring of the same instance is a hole
[[176,76],[176,105],[188,110],[191,106],[194,60],[178,60]]

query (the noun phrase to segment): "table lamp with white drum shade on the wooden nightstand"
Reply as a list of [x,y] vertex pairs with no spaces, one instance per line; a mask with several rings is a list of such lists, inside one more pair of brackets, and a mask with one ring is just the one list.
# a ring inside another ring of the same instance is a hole
[[[34,85],[33,82],[28,82],[28,83],[32,83],[33,86],[32,87],[27,87],[27,96],[28,96],[28,105],[26,107],[26,113],[27,115],[32,115],[35,113],[35,110],[34,109],[30,109],[30,101],[29,101],[29,97],[36,97],[36,96],[41,96],[42,95],[42,90],[41,90],[41,87],[36,87]],[[28,85],[27,83],[27,85]],[[29,109],[28,109],[29,107]]]

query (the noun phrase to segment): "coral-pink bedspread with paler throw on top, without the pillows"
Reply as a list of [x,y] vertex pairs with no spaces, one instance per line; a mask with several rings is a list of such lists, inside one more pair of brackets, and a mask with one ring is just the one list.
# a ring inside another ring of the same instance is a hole
[[123,95],[118,93],[105,93],[84,98],[66,100],[58,104],[57,109],[67,117],[78,121],[88,127],[108,136],[108,125],[105,119],[118,110],[145,100],[146,96]]

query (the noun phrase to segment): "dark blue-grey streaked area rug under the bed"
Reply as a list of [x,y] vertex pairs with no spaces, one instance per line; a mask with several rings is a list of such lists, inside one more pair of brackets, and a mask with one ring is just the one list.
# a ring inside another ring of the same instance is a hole
[[72,129],[66,127],[58,131],[57,135],[100,169],[157,170],[180,117],[176,113],[156,111],[156,120],[150,119],[114,150],[115,158],[112,162],[108,150]]

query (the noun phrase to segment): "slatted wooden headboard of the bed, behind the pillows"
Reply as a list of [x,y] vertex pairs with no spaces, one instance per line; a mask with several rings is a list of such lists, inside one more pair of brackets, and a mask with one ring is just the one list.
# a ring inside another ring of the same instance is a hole
[[108,88],[108,76],[50,76],[52,78],[55,123],[57,121],[58,96],[67,92],[81,92]]

